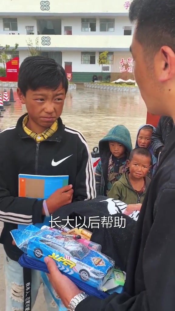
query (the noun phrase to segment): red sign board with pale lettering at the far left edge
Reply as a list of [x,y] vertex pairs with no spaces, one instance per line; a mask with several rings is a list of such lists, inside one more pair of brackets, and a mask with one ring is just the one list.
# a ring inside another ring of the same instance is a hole
[[19,57],[15,57],[6,63],[6,77],[0,77],[0,80],[17,82],[18,72],[19,72]]

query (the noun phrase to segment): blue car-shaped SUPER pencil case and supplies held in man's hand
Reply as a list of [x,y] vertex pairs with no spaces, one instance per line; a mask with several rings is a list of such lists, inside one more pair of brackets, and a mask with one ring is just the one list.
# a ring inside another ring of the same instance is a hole
[[[44,273],[48,272],[44,262],[46,256],[53,258],[59,270],[89,295],[106,298],[114,291],[123,290],[123,273],[121,272],[121,281],[117,283],[115,262],[96,250],[100,249],[101,245],[85,240],[89,243],[86,245],[82,237],[77,239],[78,235],[70,236],[68,232],[65,235],[65,232],[47,226],[39,229],[29,225],[24,230],[12,230],[11,234],[18,248],[24,252],[19,259],[20,265],[41,271],[43,281],[60,310],[66,309],[61,307],[62,303],[54,295],[54,290]],[[112,279],[114,280],[111,281],[111,285],[107,283]]]

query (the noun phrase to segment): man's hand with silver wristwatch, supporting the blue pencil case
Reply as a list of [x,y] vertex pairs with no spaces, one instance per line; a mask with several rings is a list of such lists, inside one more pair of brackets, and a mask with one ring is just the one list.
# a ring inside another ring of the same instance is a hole
[[83,293],[83,291],[79,290],[79,288],[71,280],[69,280],[67,276],[61,274],[52,258],[45,257],[44,261],[49,270],[49,274],[47,274],[47,276],[50,283],[65,307],[68,308],[71,299],[79,293]]

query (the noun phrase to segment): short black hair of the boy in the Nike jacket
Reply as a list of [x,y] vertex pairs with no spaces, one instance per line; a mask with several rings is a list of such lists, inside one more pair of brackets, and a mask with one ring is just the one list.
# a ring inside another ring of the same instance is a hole
[[19,68],[18,87],[25,96],[27,90],[40,87],[56,90],[62,83],[68,91],[68,79],[64,68],[52,58],[29,56],[23,60]]

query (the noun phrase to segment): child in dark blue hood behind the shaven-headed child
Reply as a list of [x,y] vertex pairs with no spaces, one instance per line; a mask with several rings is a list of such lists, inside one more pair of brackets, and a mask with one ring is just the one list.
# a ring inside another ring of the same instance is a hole
[[157,159],[154,156],[153,148],[151,146],[151,135],[156,129],[151,124],[144,124],[140,126],[137,133],[137,140],[135,143],[135,148],[146,148],[150,151],[152,155],[152,168],[150,169],[149,176],[152,178],[155,174],[155,169],[157,167]]

